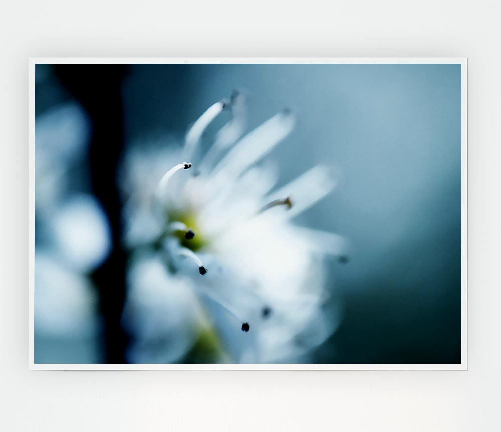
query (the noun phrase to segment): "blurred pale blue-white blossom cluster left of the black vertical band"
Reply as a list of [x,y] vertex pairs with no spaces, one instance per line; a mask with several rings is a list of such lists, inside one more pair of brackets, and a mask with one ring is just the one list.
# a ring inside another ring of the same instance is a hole
[[98,201],[74,183],[87,172],[90,122],[71,102],[38,116],[35,134],[35,361],[100,362],[88,274],[110,251],[110,228]]

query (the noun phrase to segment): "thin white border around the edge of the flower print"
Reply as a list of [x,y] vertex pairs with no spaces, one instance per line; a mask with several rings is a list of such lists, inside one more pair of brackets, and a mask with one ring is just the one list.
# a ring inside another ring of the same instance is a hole
[[[317,63],[317,64],[442,64],[461,65],[461,363],[452,364],[42,364],[35,363],[34,259],[35,259],[35,66],[39,63],[172,64],[172,63]],[[29,369],[30,370],[468,370],[467,368],[467,59],[466,58],[61,58],[29,59]]]

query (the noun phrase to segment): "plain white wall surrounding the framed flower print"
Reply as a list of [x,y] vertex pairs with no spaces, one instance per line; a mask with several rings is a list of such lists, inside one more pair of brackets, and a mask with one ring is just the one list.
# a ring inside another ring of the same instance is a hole
[[[11,2],[0,14],[0,429],[501,429],[496,1]],[[467,372],[29,372],[29,56],[469,58]]]

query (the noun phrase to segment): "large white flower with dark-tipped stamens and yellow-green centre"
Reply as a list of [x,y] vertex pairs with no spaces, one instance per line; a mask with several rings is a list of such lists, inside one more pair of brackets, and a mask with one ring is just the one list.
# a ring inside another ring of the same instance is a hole
[[[231,121],[201,157],[203,132],[227,107]],[[231,102],[217,102],[201,115],[183,149],[156,154],[155,162],[153,153],[132,153],[126,161],[125,243],[131,248],[150,243],[158,251],[131,264],[135,276],[129,275],[124,316],[136,340],[131,352],[141,346],[143,353],[133,355],[134,361],[158,361],[144,355],[145,340],[165,342],[166,335],[186,329],[189,336],[179,333],[188,341],[186,351],[210,330],[219,345],[215,361],[304,361],[335,330],[338,315],[326,310],[323,258],[339,254],[343,239],[291,221],[335,182],[327,168],[317,166],[273,191],[276,167],[262,160],[291,132],[295,117],[285,110],[240,138],[244,107],[235,93]],[[158,165],[175,159],[151,187]],[[157,324],[148,324],[148,316]],[[177,347],[164,358],[180,360],[182,351]]]

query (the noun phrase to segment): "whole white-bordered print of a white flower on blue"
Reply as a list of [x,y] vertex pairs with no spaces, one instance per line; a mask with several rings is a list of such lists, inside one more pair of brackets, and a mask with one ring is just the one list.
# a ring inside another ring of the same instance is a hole
[[30,368],[466,370],[467,62],[30,60]]

